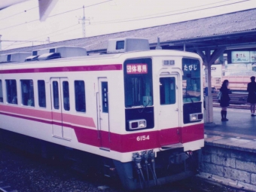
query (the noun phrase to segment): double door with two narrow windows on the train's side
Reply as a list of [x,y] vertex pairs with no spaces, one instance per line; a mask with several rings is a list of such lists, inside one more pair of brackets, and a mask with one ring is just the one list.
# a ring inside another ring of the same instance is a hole
[[69,81],[67,78],[51,78],[51,105],[53,136],[71,139],[71,130],[63,126],[63,112],[69,111]]

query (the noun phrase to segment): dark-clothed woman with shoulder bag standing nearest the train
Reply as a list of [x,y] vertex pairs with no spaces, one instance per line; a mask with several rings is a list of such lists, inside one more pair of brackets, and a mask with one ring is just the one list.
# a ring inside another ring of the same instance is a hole
[[230,105],[230,90],[227,89],[228,86],[228,81],[224,80],[222,85],[221,85],[221,101],[220,101],[220,105],[221,105],[221,121],[227,121],[227,107]]

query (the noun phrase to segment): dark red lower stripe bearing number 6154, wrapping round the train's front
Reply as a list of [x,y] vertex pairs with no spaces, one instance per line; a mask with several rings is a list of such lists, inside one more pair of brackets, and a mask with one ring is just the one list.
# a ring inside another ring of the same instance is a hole
[[[130,152],[130,151],[142,151],[152,148],[160,148],[163,143],[160,143],[163,133],[174,133],[176,130],[181,130],[181,143],[193,142],[199,139],[203,139],[203,123],[185,126],[182,128],[171,128],[161,131],[148,131],[145,133],[130,133],[120,135],[117,133],[110,133],[98,130],[91,130],[81,126],[74,126],[68,123],[59,123],[50,120],[40,120],[32,117],[23,117],[17,114],[6,114],[0,112],[0,114],[8,115],[11,117],[23,118],[26,120],[34,120],[41,123],[55,124],[59,126],[66,126],[75,130],[78,142],[87,145],[93,145],[95,147],[110,148],[112,151],[117,152]],[[165,135],[164,145],[171,145],[176,142],[176,138],[173,138],[174,134]],[[102,145],[104,144],[104,145]]]

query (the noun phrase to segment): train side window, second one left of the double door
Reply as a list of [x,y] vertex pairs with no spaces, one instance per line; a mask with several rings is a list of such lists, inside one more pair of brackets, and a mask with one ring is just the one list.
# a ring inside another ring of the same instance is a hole
[[32,80],[20,80],[21,85],[21,99],[25,106],[35,106],[34,102],[34,86]]

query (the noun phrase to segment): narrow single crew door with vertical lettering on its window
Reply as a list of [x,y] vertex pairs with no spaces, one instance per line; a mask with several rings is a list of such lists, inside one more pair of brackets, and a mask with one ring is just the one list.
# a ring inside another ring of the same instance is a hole
[[102,149],[110,148],[109,111],[108,111],[108,81],[99,78],[98,124]]

